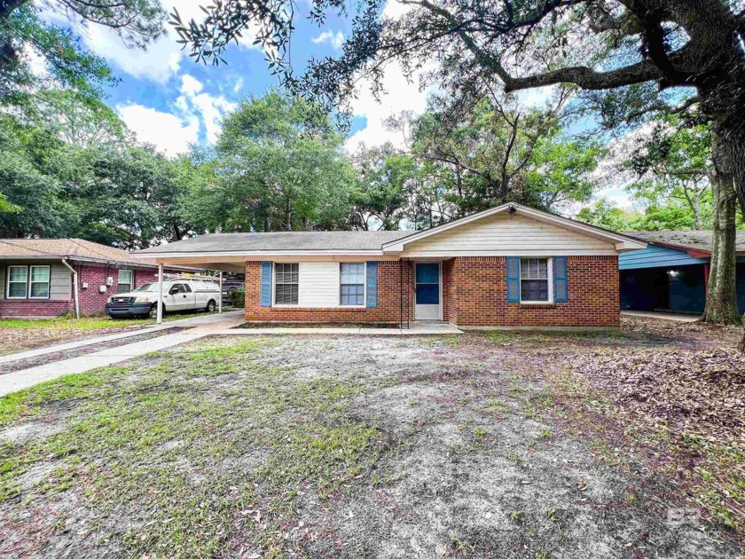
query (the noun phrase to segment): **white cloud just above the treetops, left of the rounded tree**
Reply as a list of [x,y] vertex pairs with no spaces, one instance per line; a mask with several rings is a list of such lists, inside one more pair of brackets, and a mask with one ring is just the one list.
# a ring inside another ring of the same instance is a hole
[[183,154],[196,143],[200,133],[200,119],[196,114],[163,113],[149,106],[119,105],[116,111],[137,139],[153,144],[173,157]]

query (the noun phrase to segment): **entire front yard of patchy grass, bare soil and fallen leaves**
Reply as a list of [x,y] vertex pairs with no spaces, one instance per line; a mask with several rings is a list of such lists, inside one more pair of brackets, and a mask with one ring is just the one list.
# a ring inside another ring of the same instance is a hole
[[0,399],[0,555],[734,558],[738,339],[236,335],[59,379]]

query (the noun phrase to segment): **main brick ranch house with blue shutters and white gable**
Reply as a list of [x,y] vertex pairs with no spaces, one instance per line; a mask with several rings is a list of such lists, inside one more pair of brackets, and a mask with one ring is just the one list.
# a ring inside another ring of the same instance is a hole
[[618,255],[643,241],[516,203],[426,231],[215,233],[133,253],[246,273],[246,319],[617,327]]

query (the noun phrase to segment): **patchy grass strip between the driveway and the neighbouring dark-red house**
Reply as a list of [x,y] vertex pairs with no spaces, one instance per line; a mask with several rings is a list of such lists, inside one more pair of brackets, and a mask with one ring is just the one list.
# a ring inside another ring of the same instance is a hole
[[[178,320],[193,314],[167,314],[163,320]],[[112,319],[108,316],[58,317],[54,319],[0,319],[0,355],[32,350],[55,343],[73,342],[99,335],[128,332],[153,326],[154,319]]]

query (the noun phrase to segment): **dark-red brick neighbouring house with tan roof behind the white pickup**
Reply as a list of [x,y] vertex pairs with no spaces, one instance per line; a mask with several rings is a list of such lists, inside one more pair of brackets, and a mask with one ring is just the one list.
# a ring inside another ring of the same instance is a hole
[[76,296],[80,314],[100,314],[107,297],[156,281],[156,272],[153,264],[90,240],[0,239],[0,317],[73,314]]

